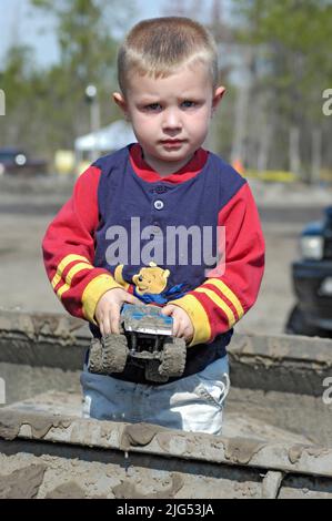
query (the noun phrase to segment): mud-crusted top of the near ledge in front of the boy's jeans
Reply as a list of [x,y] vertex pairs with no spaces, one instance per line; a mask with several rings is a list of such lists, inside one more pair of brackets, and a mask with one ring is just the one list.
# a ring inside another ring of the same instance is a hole
[[[149,423],[120,423],[0,410],[0,438],[26,439],[95,449],[149,453],[193,462],[253,468],[332,478],[332,449],[313,445],[271,443],[262,439],[224,438],[164,429]],[[167,468],[165,459],[165,468]]]

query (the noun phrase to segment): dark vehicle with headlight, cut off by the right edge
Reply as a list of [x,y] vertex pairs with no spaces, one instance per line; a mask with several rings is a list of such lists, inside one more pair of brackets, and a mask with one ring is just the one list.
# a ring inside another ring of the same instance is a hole
[[332,337],[332,206],[321,222],[305,226],[300,242],[302,258],[292,265],[298,303],[285,331]]

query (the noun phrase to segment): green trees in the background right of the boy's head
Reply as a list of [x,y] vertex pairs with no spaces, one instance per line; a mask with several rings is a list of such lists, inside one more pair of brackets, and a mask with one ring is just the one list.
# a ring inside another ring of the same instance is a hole
[[[254,49],[252,105],[269,93],[266,110],[275,126],[272,163],[288,167],[289,133],[298,129],[299,165],[309,176],[312,131],[319,131],[323,142],[329,132],[322,116],[322,92],[332,84],[332,2],[233,0],[233,4],[238,38]],[[323,160],[331,164],[331,154],[325,153]]]

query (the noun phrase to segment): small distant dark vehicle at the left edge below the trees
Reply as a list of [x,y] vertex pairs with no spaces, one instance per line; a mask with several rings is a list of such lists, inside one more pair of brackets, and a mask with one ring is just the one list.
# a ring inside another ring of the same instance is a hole
[[2,174],[44,174],[47,162],[36,160],[20,149],[0,149],[0,175]]

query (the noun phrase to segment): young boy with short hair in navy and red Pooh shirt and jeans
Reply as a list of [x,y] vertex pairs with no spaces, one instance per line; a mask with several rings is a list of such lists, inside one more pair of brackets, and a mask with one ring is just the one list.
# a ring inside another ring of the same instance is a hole
[[[84,368],[84,415],[219,435],[225,347],[256,299],[264,242],[248,183],[202,149],[224,93],[215,44],[190,19],[145,20],[122,44],[118,72],[113,99],[138,143],[79,177],[47,231],[46,268],[94,336],[119,333],[124,303],[154,304],[188,355],[183,377],[160,385],[131,362],[112,376]],[[220,258],[205,255],[207,237]]]

